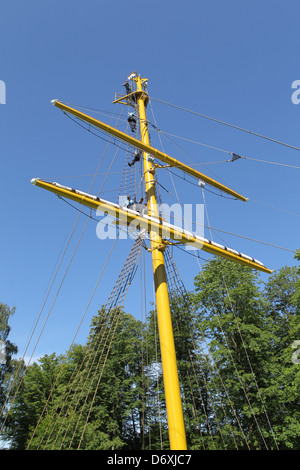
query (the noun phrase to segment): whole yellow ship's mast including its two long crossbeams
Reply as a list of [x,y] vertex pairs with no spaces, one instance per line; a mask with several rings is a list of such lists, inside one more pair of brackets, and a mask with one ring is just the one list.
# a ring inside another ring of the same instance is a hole
[[[116,217],[116,219],[119,219],[119,223],[128,224],[131,221],[136,221],[140,225],[140,227],[146,227],[150,232],[150,251],[152,254],[153,274],[155,282],[170,449],[185,450],[187,449],[187,444],[182,411],[180,385],[178,378],[178,369],[176,362],[173,328],[171,321],[169,294],[167,288],[167,276],[164,263],[164,249],[167,241],[165,240],[165,238],[163,238],[164,227],[159,218],[154,179],[155,170],[158,165],[153,163],[153,158],[148,157],[151,154],[152,157],[155,157],[170,166],[178,167],[182,171],[196,178],[202,179],[208,184],[226,192],[227,194],[231,194],[237,199],[246,201],[247,198],[238,194],[236,191],[222,185],[221,183],[213,180],[212,178],[209,178],[208,176],[200,173],[199,171],[190,168],[187,165],[184,165],[183,163],[175,160],[174,158],[159,151],[158,149],[155,149],[150,146],[148,121],[146,117],[146,106],[149,97],[147,93],[143,90],[143,84],[147,81],[147,79],[142,79],[136,74],[132,74],[131,77],[132,80],[134,80],[134,82],[136,83],[136,91],[130,93],[130,95],[124,96],[119,100],[115,100],[115,102],[121,102],[124,99],[126,100],[127,97],[134,98],[139,108],[141,140],[128,136],[127,134],[124,134],[123,132],[111,126],[108,126],[107,124],[98,121],[92,118],[91,116],[82,113],[81,111],[71,108],[70,106],[63,104],[58,100],[53,100],[52,104],[60,108],[62,111],[69,112],[77,118],[88,122],[89,124],[96,126],[101,130],[143,151],[143,167],[145,178],[145,191],[147,195],[148,216],[142,217],[133,213],[131,214],[132,211],[124,211],[124,209],[121,209],[116,204],[109,203],[108,201],[101,200],[96,196],[92,196],[81,191],[74,190],[72,188],[64,187],[57,183],[48,183],[35,178],[32,180],[32,183],[37,186],[40,186],[41,188],[47,189],[48,191],[54,192],[58,195],[65,196],[88,207],[92,207],[95,209],[100,208],[100,210],[103,210],[107,213],[111,213],[113,216]],[[226,247],[222,247],[206,239],[200,240],[199,237],[196,237],[194,234],[189,234],[184,231],[178,231],[177,227],[172,226],[170,224],[168,224],[168,228],[170,238],[178,239],[178,235],[180,235],[182,243],[193,243],[197,245],[198,248],[203,249],[204,251],[207,251],[209,253],[218,256],[223,256],[225,258],[231,259],[232,261],[247,265],[251,268],[271,273],[271,270],[266,268],[262,263],[258,262],[257,260],[254,260],[253,258],[250,258],[249,256],[242,255],[241,253],[238,253]]]

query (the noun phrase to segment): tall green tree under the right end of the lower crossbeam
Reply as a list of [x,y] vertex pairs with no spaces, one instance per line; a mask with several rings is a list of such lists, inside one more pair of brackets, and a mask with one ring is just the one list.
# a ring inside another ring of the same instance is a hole
[[261,429],[271,333],[258,274],[220,258],[212,259],[195,278],[195,302],[217,364],[214,426],[221,448],[264,448]]

